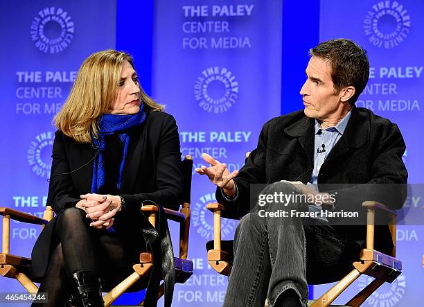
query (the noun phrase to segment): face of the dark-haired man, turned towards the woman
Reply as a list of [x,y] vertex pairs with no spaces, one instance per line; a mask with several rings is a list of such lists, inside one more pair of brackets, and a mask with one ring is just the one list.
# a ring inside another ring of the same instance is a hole
[[308,79],[300,91],[305,115],[320,121],[338,116],[342,112],[342,103],[339,93],[334,91],[330,63],[321,58],[310,58],[306,76]]

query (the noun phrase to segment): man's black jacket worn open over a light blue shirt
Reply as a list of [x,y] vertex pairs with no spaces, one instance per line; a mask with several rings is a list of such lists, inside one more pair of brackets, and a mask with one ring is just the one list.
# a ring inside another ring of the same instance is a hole
[[[271,184],[282,179],[308,182],[316,150],[314,125],[315,119],[306,117],[303,110],[265,123],[257,148],[234,179],[238,198],[228,202],[220,190],[216,193],[218,202],[226,204],[222,215],[240,218],[249,211],[250,184]],[[319,187],[325,184],[406,184],[404,152],[405,142],[396,124],[376,116],[369,109],[353,107],[344,134],[319,170]],[[405,201],[405,192],[406,186],[391,188],[381,199],[382,193],[376,195],[369,186],[342,188],[337,190],[335,207],[346,209],[354,201],[360,208],[365,200],[377,200],[391,209],[399,209]],[[336,228],[348,240],[365,238],[365,227]],[[387,230],[385,227],[382,231],[386,241],[389,240]]]

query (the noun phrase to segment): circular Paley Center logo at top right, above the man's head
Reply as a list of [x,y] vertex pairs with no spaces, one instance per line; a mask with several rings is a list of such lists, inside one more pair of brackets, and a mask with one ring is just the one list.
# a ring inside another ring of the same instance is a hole
[[373,46],[391,49],[405,41],[411,17],[398,1],[378,1],[366,12],[364,33]]

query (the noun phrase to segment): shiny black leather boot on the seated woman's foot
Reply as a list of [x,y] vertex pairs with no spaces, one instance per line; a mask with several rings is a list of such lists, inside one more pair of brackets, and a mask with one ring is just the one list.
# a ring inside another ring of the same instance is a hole
[[100,283],[93,273],[78,271],[73,273],[73,283],[78,291],[78,305],[82,307],[104,307]]

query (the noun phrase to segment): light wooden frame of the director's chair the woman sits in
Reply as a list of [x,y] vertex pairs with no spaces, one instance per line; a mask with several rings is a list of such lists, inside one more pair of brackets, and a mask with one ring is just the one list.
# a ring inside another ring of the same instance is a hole
[[[191,156],[186,156],[185,160],[193,160]],[[168,220],[179,222],[179,257],[174,257],[175,261],[175,281],[184,283],[191,274],[193,274],[193,262],[187,259],[188,252],[188,234],[190,229],[190,203],[183,202],[180,211],[174,211],[164,208],[165,216]],[[149,222],[155,226],[158,208],[154,205],[141,207],[141,212],[148,215]],[[21,283],[24,288],[30,293],[35,294],[38,287],[26,274],[26,267],[31,263],[30,258],[15,256],[10,254],[10,219],[19,222],[26,222],[35,225],[46,225],[53,219],[53,209],[51,206],[46,206],[43,218],[23,213],[15,209],[0,207],[0,215],[3,216],[3,241],[2,250],[0,253],[0,274],[3,277],[14,278]],[[147,274],[153,267],[153,255],[150,252],[140,254],[139,263],[135,263],[132,268],[134,272],[126,279],[118,283],[112,290],[103,296],[105,306],[109,307],[112,303],[125,292],[130,286],[134,285],[141,277]],[[159,288],[159,297],[164,295],[164,284]],[[143,305],[141,301],[140,305]]]

